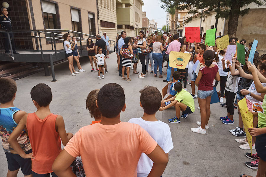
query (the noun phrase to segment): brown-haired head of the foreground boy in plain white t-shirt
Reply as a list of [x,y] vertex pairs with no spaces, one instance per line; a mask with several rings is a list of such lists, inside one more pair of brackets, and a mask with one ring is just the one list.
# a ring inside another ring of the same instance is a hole
[[160,91],[156,87],[145,86],[140,93],[140,103],[144,112],[148,115],[155,114],[162,104]]

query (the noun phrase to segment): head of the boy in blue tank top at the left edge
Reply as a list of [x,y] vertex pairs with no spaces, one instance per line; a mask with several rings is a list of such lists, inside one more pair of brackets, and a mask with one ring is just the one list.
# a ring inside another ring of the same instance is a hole
[[17,85],[13,79],[0,78],[0,103],[5,104],[14,98],[17,92]]

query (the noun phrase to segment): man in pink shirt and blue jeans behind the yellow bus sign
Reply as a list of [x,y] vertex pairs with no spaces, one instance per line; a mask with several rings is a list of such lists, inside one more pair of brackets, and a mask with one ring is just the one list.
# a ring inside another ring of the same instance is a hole
[[[178,34],[173,35],[173,42],[168,44],[167,51],[165,52],[166,54],[169,54],[170,51],[176,51],[176,52],[180,51],[181,43],[177,39],[178,39]],[[170,82],[171,70],[172,68],[169,66],[168,62],[167,77],[166,80],[163,80],[163,82]],[[177,71],[177,68],[174,68],[174,71]]]

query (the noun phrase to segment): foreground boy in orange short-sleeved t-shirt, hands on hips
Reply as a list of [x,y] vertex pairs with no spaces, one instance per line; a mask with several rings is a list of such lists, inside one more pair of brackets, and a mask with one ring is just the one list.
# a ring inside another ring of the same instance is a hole
[[116,83],[104,85],[96,100],[102,113],[98,124],[82,127],[68,142],[53,163],[59,177],[74,177],[69,168],[81,156],[87,176],[137,176],[142,152],[153,161],[152,176],[161,176],[168,157],[155,140],[137,124],[120,121],[125,111],[125,94]]

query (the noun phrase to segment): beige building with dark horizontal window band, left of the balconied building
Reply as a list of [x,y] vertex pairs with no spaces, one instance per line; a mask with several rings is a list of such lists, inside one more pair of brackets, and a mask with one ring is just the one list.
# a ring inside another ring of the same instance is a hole
[[106,32],[110,40],[116,40],[116,0],[98,0],[99,34]]

